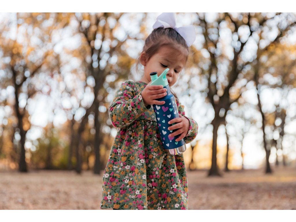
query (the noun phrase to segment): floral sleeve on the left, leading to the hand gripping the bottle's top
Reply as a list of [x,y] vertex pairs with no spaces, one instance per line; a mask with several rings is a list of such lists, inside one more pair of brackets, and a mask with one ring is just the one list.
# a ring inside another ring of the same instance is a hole
[[133,81],[126,81],[115,94],[109,107],[109,117],[114,127],[122,128],[131,124],[147,110],[141,92],[138,92]]

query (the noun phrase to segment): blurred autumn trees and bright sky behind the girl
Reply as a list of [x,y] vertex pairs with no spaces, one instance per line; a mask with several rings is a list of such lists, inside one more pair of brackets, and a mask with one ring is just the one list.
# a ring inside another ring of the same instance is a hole
[[[159,14],[0,13],[0,183],[36,170],[102,183],[117,133],[109,105],[141,78],[134,64]],[[176,13],[184,25],[196,41],[172,89],[199,124],[189,176],[281,168],[296,181],[296,14]]]

